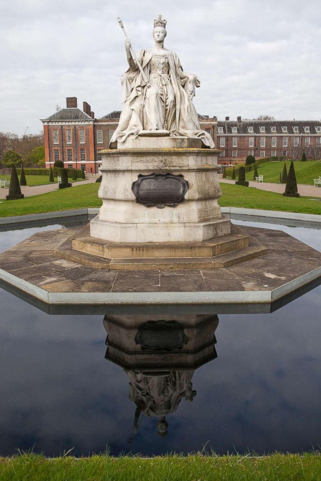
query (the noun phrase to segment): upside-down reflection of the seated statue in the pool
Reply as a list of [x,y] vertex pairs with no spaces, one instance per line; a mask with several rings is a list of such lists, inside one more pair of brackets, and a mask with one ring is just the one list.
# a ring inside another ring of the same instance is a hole
[[157,432],[166,436],[168,424],[165,415],[178,408],[182,398],[193,401],[196,391],[192,389],[191,379],[194,371],[169,371],[148,373],[127,371],[130,379],[129,399],[136,404],[134,433],[138,429],[139,416],[158,417]]

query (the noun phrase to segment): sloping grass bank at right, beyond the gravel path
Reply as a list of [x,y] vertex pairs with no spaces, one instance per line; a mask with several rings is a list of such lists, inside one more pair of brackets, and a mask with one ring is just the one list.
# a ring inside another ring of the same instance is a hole
[[[287,172],[290,162],[287,161]],[[298,184],[314,185],[313,179],[321,176],[321,160],[314,162],[293,162],[295,176]],[[266,162],[257,167],[259,175],[264,176],[265,182],[279,183],[280,173],[282,174],[284,162]],[[253,180],[253,168],[245,174],[246,180]],[[321,196],[321,189],[320,189]]]

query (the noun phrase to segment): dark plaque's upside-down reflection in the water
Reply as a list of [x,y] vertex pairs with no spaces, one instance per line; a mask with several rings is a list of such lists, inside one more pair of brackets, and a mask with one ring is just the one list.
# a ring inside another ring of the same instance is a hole
[[138,328],[135,342],[142,350],[171,351],[182,349],[187,337],[183,327],[175,321],[149,321]]

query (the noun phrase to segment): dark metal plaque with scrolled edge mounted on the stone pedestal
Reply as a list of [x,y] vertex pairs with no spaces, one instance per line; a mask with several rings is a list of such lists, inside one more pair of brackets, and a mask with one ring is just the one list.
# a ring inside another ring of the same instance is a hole
[[136,202],[145,206],[177,206],[184,201],[188,190],[188,182],[179,174],[151,174],[138,175],[138,180],[133,182],[132,191]]

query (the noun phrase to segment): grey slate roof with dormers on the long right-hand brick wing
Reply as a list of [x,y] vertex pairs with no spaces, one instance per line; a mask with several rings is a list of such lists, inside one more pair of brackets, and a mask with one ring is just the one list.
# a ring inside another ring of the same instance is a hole
[[[320,120],[245,120],[242,122],[237,122],[237,121],[219,121],[218,122],[218,128],[223,127],[223,132],[218,131],[218,135],[224,135],[226,133],[232,134],[232,127],[237,128],[237,132],[235,132],[235,135],[237,134],[246,134],[246,135],[251,135],[253,134],[258,134],[258,135],[273,135],[273,134],[283,134],[283,135],[288,135],[288,134],[304,134],[308,135],[310,134],[319,134],[321,135],[321,132],[317,132],[316,127],[321,127],[321,121]],[[249,132],[248,127],[253,127],[253,132]],[[260,127],[265,127],[265,131],[261,132]],[[271,127],[275,127],[275,131],[273,132],[271,130]],[[282,127],[287,127],[287,131],[284,132],[282,130]],[[293,127],[298,127],[298,131],[295,132],[293,130]],[[310,130],[309,132],[305,132],[304,127],[309,127]]]

